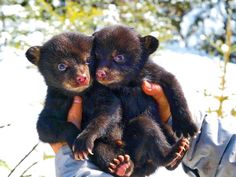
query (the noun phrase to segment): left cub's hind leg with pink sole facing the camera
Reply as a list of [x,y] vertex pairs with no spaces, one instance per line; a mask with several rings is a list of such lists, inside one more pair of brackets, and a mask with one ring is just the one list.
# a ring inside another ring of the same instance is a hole
[[124,152],[122,134],[121,126],[111,127],[107,137],[95,141],[92,160],[102,170],[112,175],[128,177],[132,174],[134,165],[130,156]]

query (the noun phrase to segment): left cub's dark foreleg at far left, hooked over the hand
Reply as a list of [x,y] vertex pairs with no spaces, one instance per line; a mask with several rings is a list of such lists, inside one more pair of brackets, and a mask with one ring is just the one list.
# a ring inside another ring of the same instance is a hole
[[37,121],[39,139],[45,143],[66,142],[70,147],[80,130],[67,121],[73,99],[48,87],[46,100]]

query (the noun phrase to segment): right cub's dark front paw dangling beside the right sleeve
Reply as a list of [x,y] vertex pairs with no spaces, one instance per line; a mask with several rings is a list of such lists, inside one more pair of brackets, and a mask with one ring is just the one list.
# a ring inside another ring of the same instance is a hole
[[192,121],[190,117],[184,119],[178,119],[173,117],[172,128],[178,137],[182,135],[184,137],[193,137],[198,132],[197,125]]

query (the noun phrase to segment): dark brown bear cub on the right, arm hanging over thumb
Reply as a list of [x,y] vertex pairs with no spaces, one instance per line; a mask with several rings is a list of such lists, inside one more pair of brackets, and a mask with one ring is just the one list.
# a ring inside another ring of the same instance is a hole
[[[158,40],[141,37],[124,26],[105,27],[94,36],[97,81],[121,100],[125,148],[134,163],[132,176],[150,175],[158,166],[173,169],[168,165],[180,147],[188,147],[188,141],[183,137],[176,140],[161,122],[156,102],[142,92],[142,81],[158,83],[163,88],[177,136],[194,136],[197,127],[174,75],[149,60],[149,55],[158,48]],[[110,170],[121,170],[116,159]]]

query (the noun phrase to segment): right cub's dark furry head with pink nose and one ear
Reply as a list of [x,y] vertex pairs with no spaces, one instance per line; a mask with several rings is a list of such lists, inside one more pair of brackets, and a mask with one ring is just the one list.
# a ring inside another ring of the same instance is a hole
[[112,88],[135,80],[159,45],[153,36],[141,37],[125,26],[105,27],[94,36],[96,79]]

